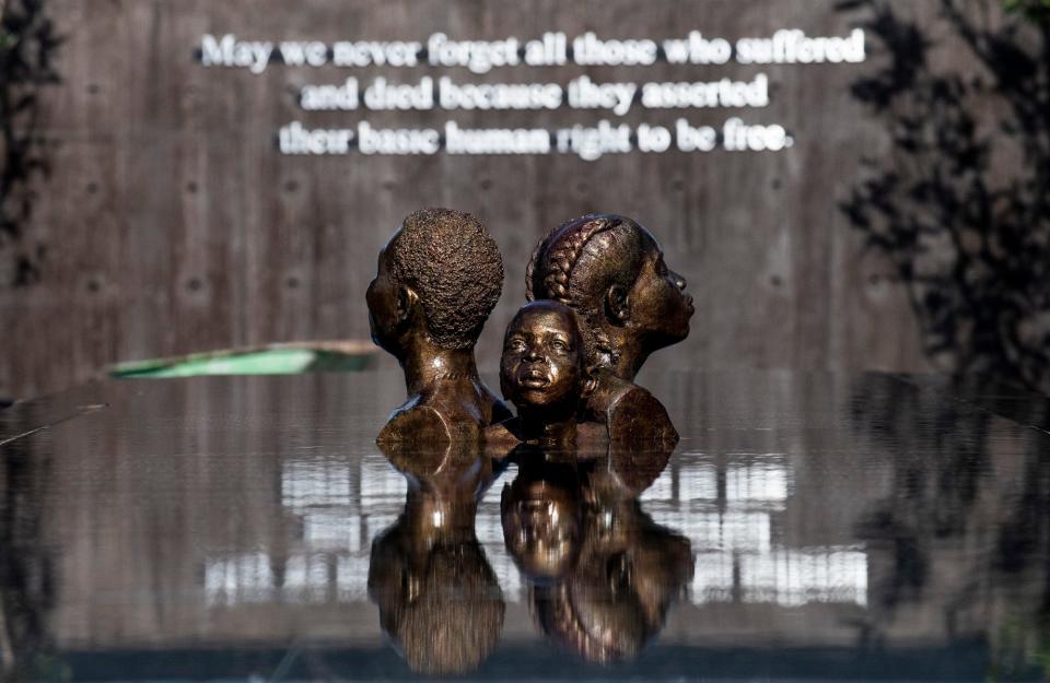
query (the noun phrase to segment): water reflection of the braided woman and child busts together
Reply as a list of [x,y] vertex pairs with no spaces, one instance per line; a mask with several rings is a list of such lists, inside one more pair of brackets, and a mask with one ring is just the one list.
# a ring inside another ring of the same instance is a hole
[[693,572],[689,541],[638,501],[669,449],[614,448],[607,459],[575,462],[528,450],[512,456],[520,471],[503,490],[501,518],[537,626],[588,661],[637,657]]

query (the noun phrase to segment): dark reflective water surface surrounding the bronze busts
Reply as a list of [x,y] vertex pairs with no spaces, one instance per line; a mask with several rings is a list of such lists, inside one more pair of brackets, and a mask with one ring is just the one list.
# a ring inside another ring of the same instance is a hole
[[669,459],[394,454],[410,476],[374,443],[395,374],[0,411],[3,676],[1050,680],[1046,398],[643,384],[681,434]]

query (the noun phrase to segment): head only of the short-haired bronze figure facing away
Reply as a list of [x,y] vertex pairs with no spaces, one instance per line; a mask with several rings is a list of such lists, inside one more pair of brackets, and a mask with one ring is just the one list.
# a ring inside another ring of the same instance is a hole
[[416,335],[440,349],[471,349],[503,290],[503,260],[474,216],[423,209],[380,251],[369,285],[372,340],[400,357]]

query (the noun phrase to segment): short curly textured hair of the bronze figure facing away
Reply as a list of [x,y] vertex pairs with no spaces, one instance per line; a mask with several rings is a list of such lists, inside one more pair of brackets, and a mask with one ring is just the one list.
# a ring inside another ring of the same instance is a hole
[[460,211],[422,209],[389,248],[392,276],[419,295],[434,342],[472,346],[503,291],[503,259],[485,226]]

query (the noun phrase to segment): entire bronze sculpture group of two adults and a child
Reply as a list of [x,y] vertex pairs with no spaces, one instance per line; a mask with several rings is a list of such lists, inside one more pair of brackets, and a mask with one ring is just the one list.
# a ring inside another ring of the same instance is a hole
[[[693,313],[685,280],[667,269],[649,231],[591,214],[540,240],[527,271],[532,303],[512,321],[501,361],[515,419],[474,358],[502,282],[495,243],[462,212],[417,211],[383,248],[369,320],[375,343],[400,362],[409,398],[380,441],[476,440],[486,427],[493,443],[574,449],[580,441],[602,452],[606,440],[677,440],[664,407],[633,382],[653,351],[688,335]],[[590,421],[605,429],[582,424]]]

